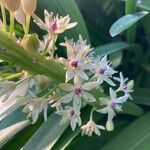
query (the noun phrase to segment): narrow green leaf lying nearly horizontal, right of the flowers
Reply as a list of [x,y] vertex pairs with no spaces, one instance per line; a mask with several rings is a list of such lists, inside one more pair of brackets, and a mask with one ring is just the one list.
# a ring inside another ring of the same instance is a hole
[[109,44],[105,44],[102,46],[98,46],[96,48],[94,48],[94,56],[105,56],[108,54],[112,54],[114,52],[118,52],[121,51],[123,49],[128,49],[131,47],[136,46],[136,44],[128,44],[126,42],[114,42],[114,43],[109,43]]

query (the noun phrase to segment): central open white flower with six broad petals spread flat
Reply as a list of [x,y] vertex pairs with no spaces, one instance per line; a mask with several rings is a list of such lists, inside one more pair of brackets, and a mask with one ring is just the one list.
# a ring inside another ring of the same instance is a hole
[[73,100],[74,108],[81,108],[81,99],[89,102],[95,102],[95,97],[89,93],[93,88],[96,88],[99,84],[97,82],[86,82],[84,84],[77,82],[74,85],[70,83],[62,83],[60,84],[60,88],[67,93],[60,99],[62,103],[69,103]]

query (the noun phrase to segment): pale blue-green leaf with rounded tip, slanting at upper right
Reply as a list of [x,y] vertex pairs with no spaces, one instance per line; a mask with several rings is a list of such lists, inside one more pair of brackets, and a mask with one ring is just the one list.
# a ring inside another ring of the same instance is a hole
[[112,37],[120,34],[121,32],[125,31],[135,23],[137,23],[140,19],[148,14],[147,11],[138,12],[133,15],[126,15],[117,20],[110,28],[110,35]]

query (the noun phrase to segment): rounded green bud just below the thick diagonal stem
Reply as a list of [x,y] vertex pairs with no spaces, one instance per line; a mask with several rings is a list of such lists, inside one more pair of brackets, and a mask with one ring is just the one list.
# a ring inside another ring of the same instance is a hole
[[34,80],[35,80],[35,84],[36,84],[37,88],[39,88],[40,90],[47,87],[50,82],[49,77],[47,77],[45,75],[36,75]]

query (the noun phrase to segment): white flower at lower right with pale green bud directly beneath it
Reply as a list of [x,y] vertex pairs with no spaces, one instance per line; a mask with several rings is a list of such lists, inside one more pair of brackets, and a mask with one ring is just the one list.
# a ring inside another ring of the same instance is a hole
[[110,93],[110,98],[100,98],[100,102],[102,106],[105,106],[105,107],[97,110],[97,112],[100,112],[102,114],[108,114],[106,129],[108,131],[112,131],[114,128],[112,120],[114,116],[116,115],[115,110],[117,112],[122,111],[121,104],[124,103],[128,99],[128,96],[124,95],[124,96],[117,98],[117,95],[112,88],[110,88],[109,93]]

